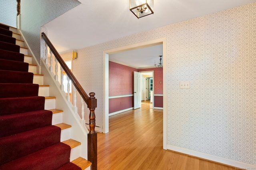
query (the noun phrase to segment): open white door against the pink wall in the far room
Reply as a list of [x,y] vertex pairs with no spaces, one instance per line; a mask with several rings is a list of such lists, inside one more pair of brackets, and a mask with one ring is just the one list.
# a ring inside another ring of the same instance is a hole
[[140,86],[141,73],[134,71],[134,109],[141,107],[141,86]]

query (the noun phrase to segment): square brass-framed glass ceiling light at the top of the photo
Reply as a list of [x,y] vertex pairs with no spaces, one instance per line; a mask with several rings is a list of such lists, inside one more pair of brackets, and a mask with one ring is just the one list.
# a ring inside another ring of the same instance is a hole
[[138,19],[154,14],[154,0],[130,0],[130,11]]

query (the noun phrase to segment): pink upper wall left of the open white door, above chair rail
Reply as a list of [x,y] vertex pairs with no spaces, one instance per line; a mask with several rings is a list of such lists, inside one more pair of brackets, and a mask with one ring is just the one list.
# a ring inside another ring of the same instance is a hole
[[109,61],[109,96],[133,94],[133,72],[138,69]]

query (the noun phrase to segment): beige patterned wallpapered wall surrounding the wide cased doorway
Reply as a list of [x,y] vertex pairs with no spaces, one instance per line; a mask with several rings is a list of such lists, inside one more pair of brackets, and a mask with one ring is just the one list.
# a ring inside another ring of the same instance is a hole
[[[256,4],[78,50],[73,72],[98,99],[105,50],[167,38],[168,145],[256,165]],[[179,89],[190,81],[190,89]],[[86,115],[88,117],[88,115]]]

